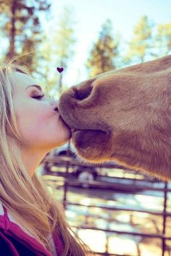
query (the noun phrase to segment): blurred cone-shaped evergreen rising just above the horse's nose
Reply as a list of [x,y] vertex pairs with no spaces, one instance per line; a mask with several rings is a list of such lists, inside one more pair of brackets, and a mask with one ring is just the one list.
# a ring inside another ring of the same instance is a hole
[[86,67],[91,77],[116,68],[114,59],[118,56],[118,38],[112,36],[112,22],[104,22],[99,38],[91,49]]

